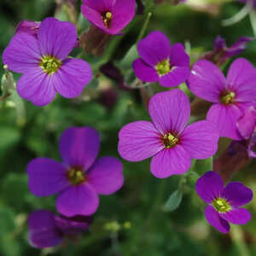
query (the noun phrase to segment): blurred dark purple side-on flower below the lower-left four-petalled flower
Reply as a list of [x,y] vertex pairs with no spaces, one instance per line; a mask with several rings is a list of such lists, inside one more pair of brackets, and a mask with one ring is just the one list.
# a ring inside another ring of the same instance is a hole
[[28,218],[28,241],[33,247],[55,247],[65,238],[76,238],[88,230],[92,218],[65,218],[52,212],[38,210]]

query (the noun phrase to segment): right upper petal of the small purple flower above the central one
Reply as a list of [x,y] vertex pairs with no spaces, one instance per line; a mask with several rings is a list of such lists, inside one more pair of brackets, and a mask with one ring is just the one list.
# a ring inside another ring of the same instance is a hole
[[171,47],[170,64],[172,67],[189,68],[189,55],[186,54],[183,44],[173,44]]

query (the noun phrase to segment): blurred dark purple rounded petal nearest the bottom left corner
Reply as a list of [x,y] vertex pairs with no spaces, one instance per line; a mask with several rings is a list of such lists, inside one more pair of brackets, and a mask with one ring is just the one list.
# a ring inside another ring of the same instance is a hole
[[38,210],[32,212],[27,220],[28,240],[33,247],[55,247],[63,237],[55,228],[55,215],[52,212]]

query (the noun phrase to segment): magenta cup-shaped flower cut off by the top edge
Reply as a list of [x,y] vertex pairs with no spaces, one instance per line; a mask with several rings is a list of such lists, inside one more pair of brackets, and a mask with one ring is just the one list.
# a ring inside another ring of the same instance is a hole
[[93,25],[115,35],[133,19],[135,7],[135,0],[83,0],[81,10]]

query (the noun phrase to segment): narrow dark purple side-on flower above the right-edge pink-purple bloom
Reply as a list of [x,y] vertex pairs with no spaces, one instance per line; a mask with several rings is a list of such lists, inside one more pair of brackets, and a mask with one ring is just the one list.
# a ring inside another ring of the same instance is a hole
[[231,57],[241,54],[241,52],[246,49],[247,43],[253,39],[254,38],[241,37],[238,38],[238,40],[230,47],[227,47],[225,39],[218,36],[214,40],[212,52],[207,53],[203,57],[204,59],[212,61],[218,66],[222,65]]

